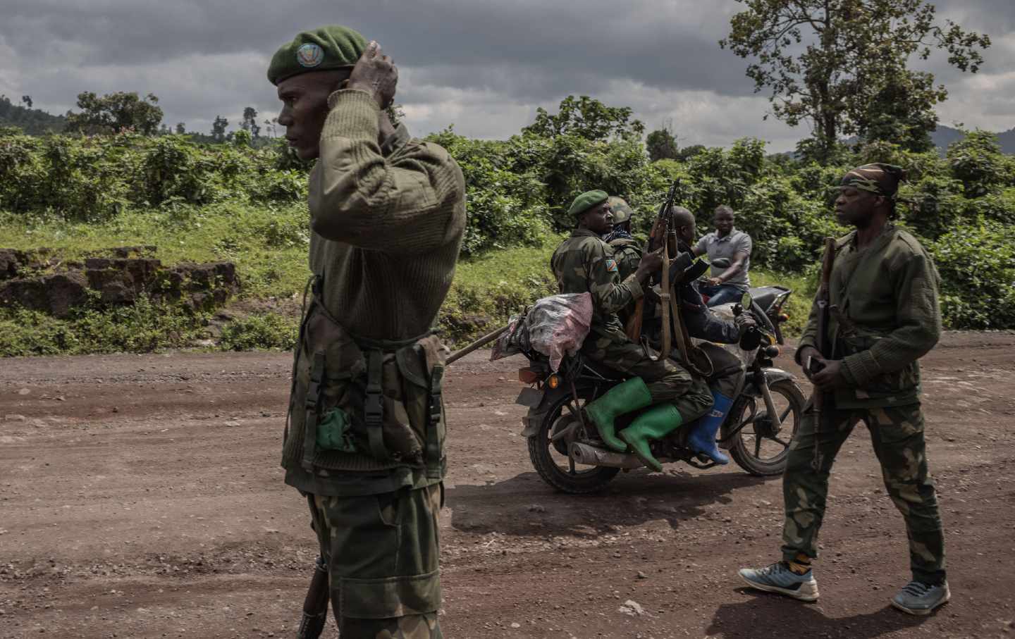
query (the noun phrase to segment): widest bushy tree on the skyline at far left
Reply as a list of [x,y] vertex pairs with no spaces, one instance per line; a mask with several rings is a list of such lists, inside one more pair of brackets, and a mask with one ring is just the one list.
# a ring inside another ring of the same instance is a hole
[[148,93],[143,99],[134,91],[107,93],[98,97],[91,91],[78,93],[81,113],[67,112],[67,131],[80,133],[120,133],[127,129],[142,135],[154,135],[162,121],[158,98]]

